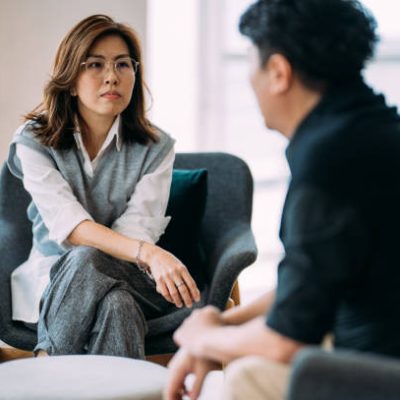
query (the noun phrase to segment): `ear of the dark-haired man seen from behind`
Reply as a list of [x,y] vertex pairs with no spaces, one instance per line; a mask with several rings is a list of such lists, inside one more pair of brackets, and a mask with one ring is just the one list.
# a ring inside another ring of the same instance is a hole
[[293,69],[285,56],[279,53],[273,54],[269,57],[266,68],[271,93],[282,94],[291,87]]

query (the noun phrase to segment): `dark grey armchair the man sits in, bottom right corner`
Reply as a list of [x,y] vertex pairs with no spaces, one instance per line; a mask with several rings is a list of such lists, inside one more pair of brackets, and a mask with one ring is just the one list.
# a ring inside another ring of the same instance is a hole
[[398,400],[400,361],[350,351],[302,350],[295,358],[288,400]]

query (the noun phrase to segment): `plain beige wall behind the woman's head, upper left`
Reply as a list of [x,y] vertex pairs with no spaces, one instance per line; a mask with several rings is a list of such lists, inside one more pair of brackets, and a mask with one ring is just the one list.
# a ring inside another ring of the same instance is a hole
[[146,0],[0,0],[0,162],[21,115],[41,100],[61,39],[96,13],[131,25],[146,47]]

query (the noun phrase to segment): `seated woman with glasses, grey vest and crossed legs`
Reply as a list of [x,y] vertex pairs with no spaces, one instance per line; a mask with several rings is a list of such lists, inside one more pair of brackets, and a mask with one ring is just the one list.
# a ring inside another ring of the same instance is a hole
[[11,144],[34,234],[12,276],[13,318],[37,328],[39,355],[143,358],[146,319],[200,300],[186,267],[154,244],[169,221],[174,141],[147,120],[144,86],[134,31],[88,17],[61,42]]

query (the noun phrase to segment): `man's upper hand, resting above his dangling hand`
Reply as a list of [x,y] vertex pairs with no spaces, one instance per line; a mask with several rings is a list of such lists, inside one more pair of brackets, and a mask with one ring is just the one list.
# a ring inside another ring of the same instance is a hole
[[203,343],[211,330],[223,325],[221,312],[212,306],[195,310],[175,331],[174,341],[196,357],[203,357]]

